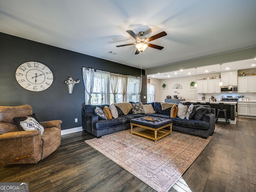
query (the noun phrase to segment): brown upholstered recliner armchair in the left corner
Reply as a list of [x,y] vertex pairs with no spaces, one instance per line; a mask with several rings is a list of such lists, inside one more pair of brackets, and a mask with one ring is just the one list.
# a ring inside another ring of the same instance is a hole
[[32,107],[0,106],[0,164],[37,163],[60,146],[61,120],[40,122],[39,130],[19,131],[14,117],[29,116]]

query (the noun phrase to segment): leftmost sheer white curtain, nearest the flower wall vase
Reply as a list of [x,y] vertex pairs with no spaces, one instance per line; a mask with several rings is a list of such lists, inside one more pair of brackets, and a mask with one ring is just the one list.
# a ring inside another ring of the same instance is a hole
[[83,67],[82,70],[85,92],[89,96],[87,104],[91,104],[92,91],[94,87],[94,69]]

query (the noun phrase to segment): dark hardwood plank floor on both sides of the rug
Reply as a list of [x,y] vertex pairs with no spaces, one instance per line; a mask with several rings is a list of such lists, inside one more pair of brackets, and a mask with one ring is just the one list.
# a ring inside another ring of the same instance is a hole
[[[83,131],[67,134],[37,164],[0,165],[0,182],[29,182],[30,192],[155,192],[84,142],[91,138]],[[182,178],[192,192],[253,192],[255,164],[256,119],[238,118],[236,125],[216,124],[212,140]]]

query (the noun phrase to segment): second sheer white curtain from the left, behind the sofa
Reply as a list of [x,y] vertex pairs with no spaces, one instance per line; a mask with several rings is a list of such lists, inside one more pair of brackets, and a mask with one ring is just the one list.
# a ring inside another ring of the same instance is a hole
[[110,72],[96,70],[96,76],[99,78],[101,104],[104,104],[104,96],[107,94],[107,85],[110,78]]

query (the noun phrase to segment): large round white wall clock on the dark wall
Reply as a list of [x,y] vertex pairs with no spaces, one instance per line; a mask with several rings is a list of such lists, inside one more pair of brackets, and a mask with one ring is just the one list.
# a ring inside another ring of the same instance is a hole
[[21,64],[15,73],[20,86],[30,91],[43,91],[53,82],[52,71],[42,63],[30,61]]

